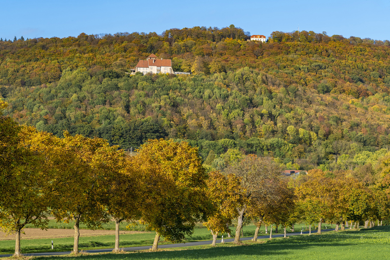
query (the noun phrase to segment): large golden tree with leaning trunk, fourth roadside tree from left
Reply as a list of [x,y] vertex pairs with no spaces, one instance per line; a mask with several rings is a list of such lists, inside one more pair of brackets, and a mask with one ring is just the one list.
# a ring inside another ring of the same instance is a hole
[[186,142],[148,140],[134,158],[134,167],[142,172],[140,191],[141,223],[156,232],[152,250],[160,236],[179,242],[191,235],[195,223],[210,210],[205,195],[207,174],[198,149]]

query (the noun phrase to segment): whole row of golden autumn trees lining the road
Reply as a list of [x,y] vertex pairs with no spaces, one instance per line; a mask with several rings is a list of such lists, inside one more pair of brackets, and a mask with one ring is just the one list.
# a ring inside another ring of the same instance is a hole
[[[0,111],[6,106],[0,101]],[[215,244],[218,234],[230,234],[235,218],[239,242],[246,218],[257,227],[256,240],[261,225],[281,225],[286,233],[298,221],[319,222],[321,232],[325,220],[343,229],[346,220],[382,220],[390,213],[381,190],[353,179],[307,178],[292,185],[276,163],[253,155],[222,173],[207,173],[197,148],[186,142],[149,140],[130,157],[100,138],[67,132],[57,138],[0,115],[0,143],[0,226],[16,233],[15,255],[25,225],[45,228],[48,216],[74,221],[78,253],[80,223],[97,228],[110,219],[119,251],[121,221],[155,231],[156,250],[160,236],[182,241],[198,221],[211,230]]]

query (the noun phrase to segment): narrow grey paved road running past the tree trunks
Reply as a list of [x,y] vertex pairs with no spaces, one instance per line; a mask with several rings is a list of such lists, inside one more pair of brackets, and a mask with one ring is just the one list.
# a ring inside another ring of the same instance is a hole
[[[332,231],[332,229],[323,229],[322,231]],[[316,230],[312,230],[312,232],[316,232]],[[302,234],[308,234],[308,231],[302,232]],[[294,233],[287,233],[287,235],[292,236],[292,235],[300,235],[301,232],[294,232]],[[284,233],[278,233],[275,235],[272,235],[272,237],[284,237]],[[241,237],[240,240],[251,240],[253,237]],[[262,239],[262,238],[269,238],[269,235],[262,235],[258,236],[257,239]],[[229,239],[223,239],[223,242],[233,242],[234,238],[229,238]],[[188,242],[188,243],[179,243],[179,244],[168,244],[168,245],[159,245],[158,248],[180,248],[183,246],[200,246],[200,245],[207,245],[211,244],[213,242],[212,240],[208,241],[199,241],[199,242]],[[218,239],[216,241],[217,243],[221,242],[221,239]],[[144,250],[144,249],[151,249],[152,246],[135,246],[131,248],[121,248],[124,251],[135,251],[135,250]],[[85,250],[87,253],[102,253],[102,252],[111,252],[113,248],[105,248],[105,249],[91,249],[91,250]],[[66,252],[47,252],[47,253],[32,253],[32,254],[23,254],[25,256],[48,256],[48,255],[68,255],[70,254],[71,251],[66,251]],[[12,256],[12,255],[0,255],[0,257],[7,257],[7,256]]]

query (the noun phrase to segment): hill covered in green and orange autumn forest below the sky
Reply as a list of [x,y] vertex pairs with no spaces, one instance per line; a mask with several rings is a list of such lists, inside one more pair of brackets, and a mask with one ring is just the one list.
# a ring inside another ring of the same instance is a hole
[[[21,124],[123,148],[187,139],[215,168],[234,158],[225,153],[306,170],[385,158],[390,42],[311,31],[273,32],[265,43],[248,36],[231,25],[0,41],[0,91]],[[193,75],[126,73],[151,53]]]

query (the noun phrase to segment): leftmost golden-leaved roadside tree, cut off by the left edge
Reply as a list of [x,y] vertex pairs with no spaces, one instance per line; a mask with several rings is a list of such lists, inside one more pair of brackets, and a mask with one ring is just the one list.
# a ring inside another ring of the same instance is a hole
[[20,252],[20,233],[27,224],[44,228],[51,206],[51,184],[42,172],[45,154],[31,148],[27,141],[35,138],[29,127],[20,127],[2,115],[7,104],[0,102],[0,227],[16,233],[15,255]]

